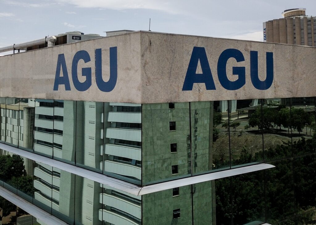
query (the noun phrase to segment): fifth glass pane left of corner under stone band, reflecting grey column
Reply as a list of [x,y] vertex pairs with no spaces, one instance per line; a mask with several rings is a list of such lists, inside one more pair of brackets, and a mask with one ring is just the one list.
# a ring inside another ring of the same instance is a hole
[[[19,148],[33,152],[35,99],[20,99]],[[38,129],[45,129],[39,127]]]

